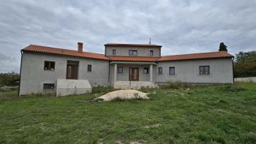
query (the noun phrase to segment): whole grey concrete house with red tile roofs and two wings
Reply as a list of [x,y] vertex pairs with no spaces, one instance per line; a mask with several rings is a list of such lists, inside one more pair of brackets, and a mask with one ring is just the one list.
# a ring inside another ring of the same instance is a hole
[[[154,87],[158,83],[233,83],[227,52],[162,56],[161,45],[105,44],[105,54],[29,45],[21,50],[19,95],[56,91],[57,80],[89,80],[92,86]],[[75,82],[75,81],[74,81]],[[68,82],[67,82],[68,83]]]

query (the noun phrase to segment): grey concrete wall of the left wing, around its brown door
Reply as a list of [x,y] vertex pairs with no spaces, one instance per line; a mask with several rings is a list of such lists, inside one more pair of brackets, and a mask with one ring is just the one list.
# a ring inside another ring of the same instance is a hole
[[[89,80],[92,86],[110,85],[108,61],[43,53],[23,53],[20,95],[42,93],[44,83],[55,83],[56,86],[57,79],[66,79],[67,60],[79,61],[78,80]],[[55,61],[55,70],[44,70],[44,61]],[[88,64],[92,65],[92,72],[87,72]]]

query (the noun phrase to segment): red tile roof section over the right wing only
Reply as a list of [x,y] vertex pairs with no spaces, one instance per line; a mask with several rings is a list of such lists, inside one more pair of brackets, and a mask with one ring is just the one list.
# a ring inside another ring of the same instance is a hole
[[184,55],[162,56],[157,61],[181,61],[189,59],[204,59],[204,58],[232,58],[230,53],[225,51],[209,52],[209,53],[190,53]]

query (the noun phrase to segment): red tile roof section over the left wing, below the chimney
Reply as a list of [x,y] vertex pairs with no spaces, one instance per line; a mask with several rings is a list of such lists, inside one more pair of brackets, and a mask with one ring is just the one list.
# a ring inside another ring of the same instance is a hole
[[52,53],[52,54],[59,54],[64,56],[77,56],[77,57],[83,57],[83,58],[97,58],[97,59],[109,60],[105,55],[102,55],[99,53],[89,53],[89,52],[78,53],[77,50],[52,48],[52,47],[45,47],[41,45],[29,45],[26,48],[23,48],[23,51],[29,51],[29,52],[35,52],[35,53]]

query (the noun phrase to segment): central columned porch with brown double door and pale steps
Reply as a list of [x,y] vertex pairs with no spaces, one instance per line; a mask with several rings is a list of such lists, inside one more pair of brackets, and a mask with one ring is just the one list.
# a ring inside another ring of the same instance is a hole
[[113,88],[154,88],[154,62],[113,61]]

